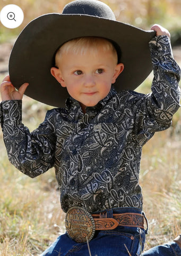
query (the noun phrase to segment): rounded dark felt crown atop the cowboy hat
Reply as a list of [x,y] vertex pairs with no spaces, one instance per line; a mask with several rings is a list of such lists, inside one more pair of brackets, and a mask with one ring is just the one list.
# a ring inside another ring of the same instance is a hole
[[97,0],[75,0],[65,5],[62,14],[83,14],[116,20],[110,7]]

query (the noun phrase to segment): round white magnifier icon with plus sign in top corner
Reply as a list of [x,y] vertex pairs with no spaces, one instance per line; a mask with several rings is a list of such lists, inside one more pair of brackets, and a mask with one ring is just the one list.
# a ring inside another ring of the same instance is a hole
[[15,4],[8,4],[0,12],[1,23],[6,28],[18,28],[23,22],[24,14],[22,9]]

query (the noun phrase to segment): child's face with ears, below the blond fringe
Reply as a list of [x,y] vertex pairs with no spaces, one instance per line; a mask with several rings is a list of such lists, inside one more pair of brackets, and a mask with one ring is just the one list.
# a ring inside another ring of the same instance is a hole
[[117,65],[117,58],[110,50],[105,52],[99,48],[96,55],[89,51],[82,55],[63,53],[58,69],[51,68],[51,74],[80,102],[84,113],[86,107],[97,105],[107,96],[124,68],[123,63]]

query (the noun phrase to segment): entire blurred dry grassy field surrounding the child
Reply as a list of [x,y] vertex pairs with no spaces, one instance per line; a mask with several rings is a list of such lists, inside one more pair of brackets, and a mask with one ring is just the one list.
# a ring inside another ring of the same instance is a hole
[[[0,81],[8,74],[8,57],[15,38],[27,23],[38,15],[61,12],[65,0],[13,0],[24,12],[24,22],[17,29],[0,24]],[[160,23],[169,29],[174,57],[181,65],[180,0],[109,0],[117,20],[149,29]],[[3,6],[12,1],[1,0]],[[137,91],[150,92],[152,74]],[[0,99],[1,100],[1,99]],[[50,106],[23,99],[23,122],[32,131],[44,120]],[[181,109],[173,124],[143,147],[140,183],[144,212],[150,228],[146,248],[166,243],[181,233]],[[16,170],[7,159],[0,131],[0,255],[37,256],[64,232],[64,213],[54,170],[31,179]],[[93,255],[92,255],[93,256]]]

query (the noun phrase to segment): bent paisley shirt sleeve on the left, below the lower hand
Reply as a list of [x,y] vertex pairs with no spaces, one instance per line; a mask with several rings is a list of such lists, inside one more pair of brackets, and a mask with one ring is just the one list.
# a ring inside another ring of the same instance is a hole
[[56,136],[47,120],[32,133],[22,124],[22,101],[1,103],[1,126],[10,162],[21,172],[36,177],[54,165]]

